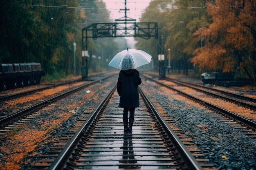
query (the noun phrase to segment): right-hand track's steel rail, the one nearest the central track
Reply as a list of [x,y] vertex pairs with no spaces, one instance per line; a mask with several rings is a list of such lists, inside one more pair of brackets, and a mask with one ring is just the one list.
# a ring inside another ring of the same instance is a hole
[[[149,78],[149,79],[150,79],[150,78]],[[234,119],[237,119],[238,121],[241,121],[241,122],[243,122],[243,123],[245,123],[245,124],[247,124],[247,125],[249,125],[249,126],[252,126],[253,128],[256,128],[256,122],[255,122],[255,121],[251,121],[251,120],[249,120],[249,119],[247,119],[247,118],[245,118],[245,117],[242,117],[242,116],[240,116],[240,115],[237,115],[237,114],[235,114],[235,113],[232,113],[232,112],[230,112],[230,111],[228,111],[228,110],[226,110],[226,109],[224,109],[224,108],[220,108],[220,107],[218,107],[218,106],[216,106],[216,105],[214,105],[214,104],[211,104],[211,103],[209,103],[209,102],[207,102],[207,101],[204,101],[204,100],[202,100],[202,99],[198,99],[197,97],[193,97],[192,95],[189,95],[188,93],[184,93],[184,92],[182,92],[182,91],[180,91],[180,90],[178,90],[178,89],[172,88],[171,86],[168,86],[168,85],[166,85],[166,84],[163,84],[163,83],[161,83],[161,82],[158,82],[158,81],[156,81],[156,80],[154,80],[154,79],[150,79],[150,80],[152,80],[152,81],[154,81],[154,82],[156,82],[156,83],[158,83],[158,84],[160,84],[160,85],[162,85],[162,86],[165,86],[165,87],[167,87],[167,88],[169,88],[169,89],[171,89],[171,90],[173,90],[173,91],[177,91],[177,92],[180,93],[181,95],[183,95],[183,96],[185,96],[185,97],[187,97],[187,98],[189,98],[189,99],[192,99],[192,100],[194,100],[195,102],[198,102],[198,103],[200,103],[200,104],[202,104],[202,105],[204,105],[204,106],[207,106],[207,107],[209,107],[209,108],[211,108],[211,109],[213,109],[213,110],[216,110],[216,111],[218,111],[218,112],[220,112],[220,113],[224,113],[224,114],[226,114],[226,115],[229,115],[229,116],[233,117]]]

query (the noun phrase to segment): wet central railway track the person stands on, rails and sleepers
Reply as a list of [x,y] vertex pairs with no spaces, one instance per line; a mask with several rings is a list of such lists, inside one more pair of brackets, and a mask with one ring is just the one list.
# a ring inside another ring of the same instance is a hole
[[207,160],[199,163],[141,89],[140,95],[132,132],[124,132],[115,86],[79,130],[53,144],[35,169],[202,170]]

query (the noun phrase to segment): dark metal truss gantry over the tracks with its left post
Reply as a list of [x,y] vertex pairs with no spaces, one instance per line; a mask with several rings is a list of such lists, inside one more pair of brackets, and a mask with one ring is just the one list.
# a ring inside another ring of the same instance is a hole
[[135,19],[129,18],[126,15],[115,20],[114,23],[94,23],[83,28],[82,41],[82,78],[88,77],[88,38],[117,38],[117,37],[140,37],[149,39],[150,37],[158,38],[158,27],[156,22],[136,22]]

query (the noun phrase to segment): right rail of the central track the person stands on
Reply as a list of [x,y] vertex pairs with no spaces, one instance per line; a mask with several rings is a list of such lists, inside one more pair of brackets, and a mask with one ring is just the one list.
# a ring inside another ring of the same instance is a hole
[[155,116],[157,117],[161,126],[164,128],[168,137],[172,139],[171,141],[173,142],[174,146],[181,154],[181,157],[182,159],[184,159],[184,162],[186,162],[186,164],[188,165],[187,168],[189,168],[189,170],[203,170],[202,166],[200,166],[198,161],[196,161],[195,157],[193,157],[189,150],[187,150],[186,146],[182,143],[180,138],[175,134],[175,132],[168,125],[168,123],[164,120],[162,115],[158,112],[157,108],[155,108],[153,103],[150,102],[150,99],[147,97],[144,91],[141,88],[139,88],[139,92],[141,93],[141,96],[143,96],[143,98],[145,99],[145,102],[150,106],[152,111],[155,113]]

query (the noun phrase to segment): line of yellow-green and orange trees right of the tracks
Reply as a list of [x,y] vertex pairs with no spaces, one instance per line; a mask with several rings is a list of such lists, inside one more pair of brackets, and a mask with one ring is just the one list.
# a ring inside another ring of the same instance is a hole
[[193,64],[196,73],[235,72],[256,84],[255,0],[153,0],[141,22],[158,22],[159,38],[137,38],[137,48],[157,56],[164,41],[172,69],[187,74]]

